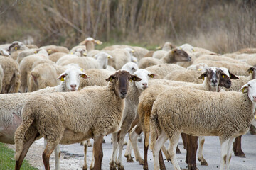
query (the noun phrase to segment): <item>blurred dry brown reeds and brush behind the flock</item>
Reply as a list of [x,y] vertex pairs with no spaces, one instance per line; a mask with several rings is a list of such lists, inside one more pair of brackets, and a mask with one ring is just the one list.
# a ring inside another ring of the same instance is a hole
[[[256,47],[255,0],[1,0],[0,44],[73,47],[88,36],[142,47]],[[103,47],[103,46],[101,46]]]

